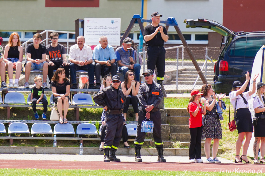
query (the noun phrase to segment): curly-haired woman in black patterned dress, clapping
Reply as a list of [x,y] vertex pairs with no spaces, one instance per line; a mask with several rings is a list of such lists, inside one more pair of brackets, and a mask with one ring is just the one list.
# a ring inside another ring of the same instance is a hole
[[[222,139],[222,128],[219,120],[214,118],[212,114],[217,114],[216,112],[216,98],[211,84],[204,84],[201,88],[201,103],[205,103],[209,100],[206,106],[206,114],[204,115],[205,125],[202,128],[201,138],[205,139],[204,151],[206,155],[206,163],[221,163],[220,160],[216,158],[218,151],[219,141]],[[218,98],[219,107],[221,107],[221,99],[224,98],[225,94],[220,94]],[[210,157],[210,146],[213,139],[212,145],[212,158]]]

